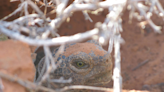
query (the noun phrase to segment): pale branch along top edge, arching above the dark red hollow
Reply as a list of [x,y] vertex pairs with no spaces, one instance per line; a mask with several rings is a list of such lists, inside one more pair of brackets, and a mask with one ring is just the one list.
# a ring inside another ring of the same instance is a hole
[[113,5],[119,5],[124,3],[124,1],[104,1],[104,2],[100,2],[95,4],[72,4],[69,5],[64,11],[63,14],[61,16],[59,16],[58,18],[54,19],[51,21],[50,25],[53,29],[58,28],[61,23],[66,20],[67,17],[70,16],[71,12],[75,12],[75,11],[82,11],[82,10],[96,10],[98,8],[108,8],[110,6]]

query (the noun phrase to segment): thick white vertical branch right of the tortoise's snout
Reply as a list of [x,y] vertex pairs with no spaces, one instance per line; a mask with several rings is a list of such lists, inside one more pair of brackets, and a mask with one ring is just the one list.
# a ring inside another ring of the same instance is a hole
[[[121,14],[126,6],[127,0],[122,0],[122,4],[119,6],[109,7],[109,14],[104,21],[103,25],[104,30],[111,31],[112,34],[110,35],[110,47],[108,48],[109,53],[111,53],[111,49],[114,45],[114,56],[115,56],[115,66],[113,70],[113,91],[114,92],[121,92],[122,91],[122,77],[121,77],[121,53],[120,53],[120,44],[121,44],[121,34],[122,25],[121,25]],[[108,32],[109,33],[109,32]],[[105,38],[105,37],[104,37]]]

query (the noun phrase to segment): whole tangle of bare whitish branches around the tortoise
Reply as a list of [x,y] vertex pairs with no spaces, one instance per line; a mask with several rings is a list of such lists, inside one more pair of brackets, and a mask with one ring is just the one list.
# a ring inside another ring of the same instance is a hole
[[[157,14],[164,19],[164,10],[158,0],[74,0],[70,5],[68,5],[68,0],[35,0],[40,6],[37,6],[35,2],[31,0],[21,0],[20,6],[10,15],[4,17],[0,20],[0,32],[9,36],[10,38],[17,39],[19,41],[28,43],[34,46],[43,46],[46,59],[45,63],[47,67],[43,68],[46,72],[39,78],[38,84],[41,84],[45,79],[49,79],[49,73],[55,70],[57,65],[53,63],[56,59],[52,58],[50,53],[50,46],[59,46],[67,43],[75,43],[83,41],[87,38],[94,38],[98,40],[101,44],[106,44],[109,42],[108,52],[112,52],[115,49],[115,67],[113,72],[114,79],[114,92],[121,92],[122,78],[121,78],[121,56],[120,56],[120,44],[123,42],[121,38],[122,32],[122,19],[124,9],[128,8],[130,10],[129,19],[137,18],[139,21],[144,19],[147,24],[149,24],[155,32],[161,33],[161,27],[157,26],[151,20],[153,14]],[[146,3],[147,5],[145,5]],[[35,13],[29,13],[28,7],[32,7]],[[45,6],[44,12],[40,10],[39,7]],[[51,7],[52,11],[47,12],[47,7]],[[88,11],[98,11],[98,10],[108,9],[109,13],[103,23],[97,23],[95,28],[88,30],[84,33],[75,34],[72,36],[62,36],[57,33],[57,29],[61,24],[71,16],[75,11],[82,11],[85,19],[93,21],[89,15]],[[13,21],[5,21],[7,18],[13,16],[14,14],[24,11],[24,16],[15,19]],[[55,19],[50,19],[47,17],[49,14],[56,14]],[[142,28],[145,28],[145,24],[141,24]],[[23,35],[21,33],[26,33]],[[49,36],[53,38],[50,38]],[[110,39],[110,40],[109,40]],[[62,48],[62,47],[61,47]],[[61,50],[62,53],[62,50]],[[58,58],[56,56],[55,58]],[[40,72],[42,74],[42,70]],[[0,77],[3,77],[2,75]],[[7,76],[6,76],[7,77]],[[11,78],[9,78],[11,79]],[[64,80],[64,79],[59,79]],[[19,81],[18,81],[19,82]],[[23,85],[21,82],[19,82]],[[31,83],[30,83],[31,84]],[[33,87],[37,85],[31,84]],[[23,85],[25,86],[25,85]],[[26,86],[25,86],[26,87]],[[37,86],[38,87],[38,86]],[[39,86],[40,87],[40,86]],[[2,87],[0,86],[0,89]],[[46,88],[40,87],[42,90],[48,90]],[[81,86],[70,86],[64,88],[60,91],[65,91],[68,89],[78,89]],[[83,86],[84,89],[99,89],[95,87]],[[104,89],[102,89],[104,91]],[[49,90],[53,92],[53,90]]]

